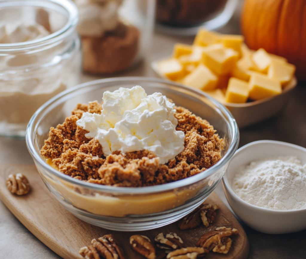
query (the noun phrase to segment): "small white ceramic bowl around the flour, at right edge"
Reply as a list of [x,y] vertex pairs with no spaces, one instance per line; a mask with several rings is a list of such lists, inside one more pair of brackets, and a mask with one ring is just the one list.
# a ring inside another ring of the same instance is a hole
[[222,183],[226,199],[233,211],[250,228],[267,234],[285,234],[306,229],[306,209],[273,210],[251,205],[232,190],[232,179],[237,168],[251,161],[271,156],[296,156],[306,163],[306,148],[286,142],[260,140],[251,142],[236,151],[223,176]]

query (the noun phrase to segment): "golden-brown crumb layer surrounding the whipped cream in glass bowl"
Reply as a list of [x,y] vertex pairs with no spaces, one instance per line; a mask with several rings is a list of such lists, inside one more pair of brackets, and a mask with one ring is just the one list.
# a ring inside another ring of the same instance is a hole
[[101,114],[101,105],[90,102],[78,104],[72,115],[56,128],[51,127],[49,137],[40,153],[51,158],[58,170],[73,178],[110,186],[140,187],[170,183],[193,176],[210,168],[221,159],[225,142],[220,139],[207,120],[183,107],[175,107],[177,130],[185,133],[185,148],[165,165],[148,150],[122,154],[114,151],[104,156],[96,139],[88,139],[88,132],[76,125],[83,112]]

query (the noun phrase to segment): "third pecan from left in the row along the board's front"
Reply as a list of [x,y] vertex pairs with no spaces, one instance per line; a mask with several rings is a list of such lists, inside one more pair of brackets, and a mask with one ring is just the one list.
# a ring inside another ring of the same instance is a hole
[[154,239],[156,246],[160,249],[175,250],[183,247],[183,240],[173,232],[170,232],[164,237],[163,233],[159,233]]

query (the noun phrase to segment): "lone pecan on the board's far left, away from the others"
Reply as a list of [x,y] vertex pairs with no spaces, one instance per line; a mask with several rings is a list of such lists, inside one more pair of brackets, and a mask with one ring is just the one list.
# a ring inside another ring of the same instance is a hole
[[9,175],[6,179],[6,186],[11,193],[16,193],[17,195],[24,195],[30,191],[30,184],[23,174],[18,173],[15,175]]

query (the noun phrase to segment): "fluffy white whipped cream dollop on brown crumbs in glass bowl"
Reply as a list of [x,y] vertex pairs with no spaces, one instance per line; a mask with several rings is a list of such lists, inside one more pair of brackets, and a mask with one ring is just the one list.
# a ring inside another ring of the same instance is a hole
[[102,114],[83,113],[76,124],[98,139],[105,155],[150,150],[160,164],[184,149],[185,134],[177,131],[174,104],[161,93],[147,95],[140,86],[103,94]]

